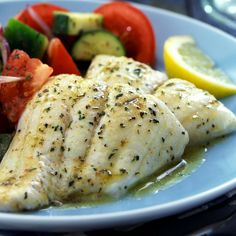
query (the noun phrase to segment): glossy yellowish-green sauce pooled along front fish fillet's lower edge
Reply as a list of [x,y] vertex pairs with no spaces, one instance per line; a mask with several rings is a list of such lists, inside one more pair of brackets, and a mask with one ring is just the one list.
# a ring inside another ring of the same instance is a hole
[[[205,159],[204,154],[207,151],[206,147],[188,147],[186,148],[182,161],[176,163],[174,166],[169,166],[165,170],[160,170],[158,173],[153,174],[151,177],[147,177],[142,182],[136,184],[129,190],[128,196],[134,198],[142,198],[148,194],[156,194],[160,190],[166,189],[173,184],[176,184],[191,175],[194,171],[200,167]],[[80,207],[91,207],[102,204],[108,204],[115,202],[110,196],[99,196],[94,200],[85,200],[76,203],[64,203],[55,204],[54,207],[59,208],[80,208]]]

